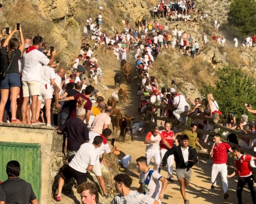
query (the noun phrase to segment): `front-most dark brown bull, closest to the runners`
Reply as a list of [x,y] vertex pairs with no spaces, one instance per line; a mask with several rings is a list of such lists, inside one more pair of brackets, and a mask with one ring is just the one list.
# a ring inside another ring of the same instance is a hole
[[119,125],[120,125],[120,135],[119,138],[123,137],[123,142],[125,142],[125,136],[128,131],[131,132],[131,142],[133,142],[133,123],[132,121],[136,118],[125,115],[120,118]]

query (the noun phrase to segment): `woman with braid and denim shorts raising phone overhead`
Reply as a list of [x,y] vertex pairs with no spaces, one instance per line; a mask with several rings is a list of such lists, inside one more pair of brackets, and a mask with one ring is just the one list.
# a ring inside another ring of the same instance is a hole
[[[19,32],[21,38],[21,45],[19,46],[19,40],[17,38],[12,38],[13,34]],[[7,48],[7,49],[6,49]],[[24,38],[22,34],[21,27],[19,30],[15,27],[15,30],[6,38],[0,53],[2,59],[3,72],[6,73],[4,79],[0,81],[0,122],[3,122],[3,111],[5,109],[6,102],[9,97],[10,90],[10,100],[11,100],[11,123],[22,123],[16,119],[17,110],[17,97],[19,95],[19,90],[21,88],[21,81],[19,77],[19,65],[18,61],[21,57],[21,53],[24,50]],[[9,67],[10,65],[10,67]],[[7,70],[7,68],[9,69]]]

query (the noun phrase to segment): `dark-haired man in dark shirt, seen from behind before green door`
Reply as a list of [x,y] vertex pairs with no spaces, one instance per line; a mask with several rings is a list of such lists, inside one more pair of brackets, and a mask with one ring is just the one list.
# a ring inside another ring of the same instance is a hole
[[18,161],[9,161],[6,166],[8,179],[0,185],[0,204],[39,204],[30,183],[19,178]]

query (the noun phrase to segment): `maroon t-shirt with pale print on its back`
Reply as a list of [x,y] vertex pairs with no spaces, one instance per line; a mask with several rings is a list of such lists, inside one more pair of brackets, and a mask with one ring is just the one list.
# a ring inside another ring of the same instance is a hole
[[92,102],[86,96],[84,96],[83,94],[76,94],[73,97],[75,98],[76,106],[73,108],[70,118],[76,117],[76,110],[78,108],[84,108],[86,111],[91,110]]

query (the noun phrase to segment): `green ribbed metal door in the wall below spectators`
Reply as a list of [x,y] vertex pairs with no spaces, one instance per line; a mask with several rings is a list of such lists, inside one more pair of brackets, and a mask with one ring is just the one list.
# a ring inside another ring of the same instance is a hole
[[21,166],[19,177],[30,183],[37,199],[41,197],[41,144],[0,142],[0,181],[7,179],[6,164],[16,160]]

